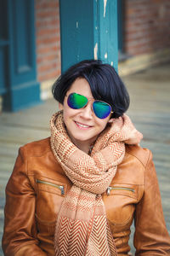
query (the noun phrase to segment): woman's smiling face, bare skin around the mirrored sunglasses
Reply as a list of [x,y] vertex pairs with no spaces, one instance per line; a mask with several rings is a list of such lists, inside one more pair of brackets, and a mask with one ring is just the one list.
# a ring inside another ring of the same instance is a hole
[[[88,104],[84,108],[72,109],[67,104],[67,96],[72,92],[86,96]],[[71,84],[70,90],[67,91],[63,105],[59,104],[59,109],[63,109],[64,122],[71,141],[77,145],[78,148],[82,149],[86,144],[90,146],[99,133],[105,129],[111,114],[106,119],[99,119],[93,109],[94,97],[92,95],[90,86],[86,79],[76,79]]]

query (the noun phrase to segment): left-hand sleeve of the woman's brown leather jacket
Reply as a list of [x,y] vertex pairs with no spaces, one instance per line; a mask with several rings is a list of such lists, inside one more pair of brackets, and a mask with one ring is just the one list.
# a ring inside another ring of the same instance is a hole
[[45,256],[38,247],[35,221],[36,195],[26,170],[25,148],[14,165],[6,187],[3,252],[5,256]]

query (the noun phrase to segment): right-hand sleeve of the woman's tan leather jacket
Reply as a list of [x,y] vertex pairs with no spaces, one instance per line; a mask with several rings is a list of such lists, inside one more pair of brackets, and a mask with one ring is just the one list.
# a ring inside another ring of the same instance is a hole
[[145,170],[144,195],[136,207],[134,224],[136,256],[170,255],[170,236],[163,217],[161,194],[151,153]]

